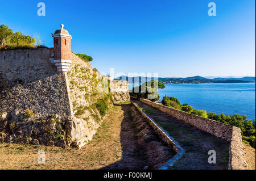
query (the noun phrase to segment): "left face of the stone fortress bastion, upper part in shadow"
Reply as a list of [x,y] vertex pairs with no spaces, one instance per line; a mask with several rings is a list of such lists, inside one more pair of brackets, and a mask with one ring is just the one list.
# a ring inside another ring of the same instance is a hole
[[49,61],[52,53],[53,48],[0,51],[0,141],[65,145],[64,130],[55,122],[71,120],[71,110],[65,74]]

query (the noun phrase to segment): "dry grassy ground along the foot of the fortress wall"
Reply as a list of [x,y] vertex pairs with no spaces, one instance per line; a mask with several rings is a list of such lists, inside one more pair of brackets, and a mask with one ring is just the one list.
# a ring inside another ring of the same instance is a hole
[[[140,125],[131,119],[130,107],[130,104],[123,104],[110,108],[93,140],[80,150],[0,144],[0,169],[143,169],[150,159],[143,141],[138,140],[137,127]],[[154,142],[159,149],[163,148],[159,142]],[[45,164],[37,162],[37,153],[41,149],[46,152]],[[165,153],[169,152],[166,150]]]

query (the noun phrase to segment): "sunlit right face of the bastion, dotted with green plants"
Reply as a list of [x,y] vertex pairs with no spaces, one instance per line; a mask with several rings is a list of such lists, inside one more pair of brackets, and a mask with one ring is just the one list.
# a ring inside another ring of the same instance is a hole
[[[106,81],[100,73],[94,71],[88,62],[75,54],[72,53],[71,56],[72,64],[67,73],[69,104],[72,111],[72,121],[67,124],[68,144],[81,148],[92,140],[104,120],[94,103],[108,96],[109,92],[108,89],[98,89],[98,85]],[[79,109],[84,111],[80,113]]]

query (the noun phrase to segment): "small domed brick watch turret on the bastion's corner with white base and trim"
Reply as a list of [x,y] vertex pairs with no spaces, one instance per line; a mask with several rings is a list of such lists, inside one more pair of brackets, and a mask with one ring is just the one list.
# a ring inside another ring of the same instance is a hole
[[68,71],[71,61],[71,35],[68,31],[63,29],[64,25],[61,24],[61,29],[56,30],[52,34],[54,41],[54,59],[53,63],[57,66],[58,71]]

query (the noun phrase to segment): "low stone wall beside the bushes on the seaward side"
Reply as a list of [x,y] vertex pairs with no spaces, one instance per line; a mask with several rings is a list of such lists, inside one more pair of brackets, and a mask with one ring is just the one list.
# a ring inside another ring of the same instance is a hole
[[247,163],[245,160],[245,148],[242,144],[241,129],[233,127],[232,125],[220,123],[211,119],[193,115],[188,112],[175,110],[167,106],[163,106],[159,103],[151,102],[147,99],[139,99],[141,102],[148,104],[158,110],[167,113],[184,121],[185,123],[191,124],[196,128],[213,134],[214,136],[221,137],[224,140],[230,141],[229,148],[229,170],[243,170],[246,169]]

